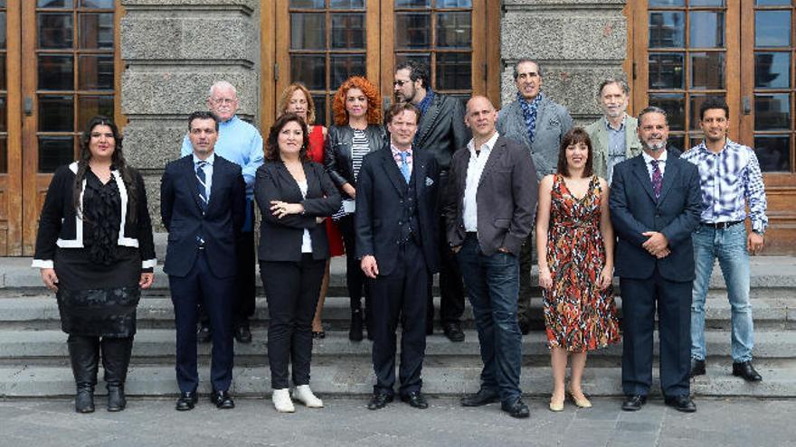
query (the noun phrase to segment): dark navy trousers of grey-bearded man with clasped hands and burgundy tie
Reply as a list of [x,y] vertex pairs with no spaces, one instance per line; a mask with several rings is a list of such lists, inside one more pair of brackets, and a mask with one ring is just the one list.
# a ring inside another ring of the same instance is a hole
[[688,396],[691,368],[691,287],[669,281],[655,268],[651,278],[620,278],[622,293],[622,390],[647,396],[652,386],[652,346],[658,308],[660,387],[664,396]]

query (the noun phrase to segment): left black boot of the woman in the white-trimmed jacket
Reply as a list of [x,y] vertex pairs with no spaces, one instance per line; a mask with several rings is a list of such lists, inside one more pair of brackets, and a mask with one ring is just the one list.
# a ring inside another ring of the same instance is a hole
[[70,334],[67,339],[71,371],[77,385],[75,411],[94,412],[94,386],[97,385],[97,369],[100,364],[100,338]]

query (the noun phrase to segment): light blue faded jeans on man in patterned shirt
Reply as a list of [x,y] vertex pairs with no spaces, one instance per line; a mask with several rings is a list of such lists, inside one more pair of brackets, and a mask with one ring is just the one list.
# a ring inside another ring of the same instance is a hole
[[746,251],[746,228],[743,223],[725,229],[699,226],[693,235],[696,279],[691,303],[691,358],[704,360],[705,297],[715,259],[727,285],[732,308],[732,354],[734,362],[752,359],[754,330],[752,305],[749,303],[749,253]]

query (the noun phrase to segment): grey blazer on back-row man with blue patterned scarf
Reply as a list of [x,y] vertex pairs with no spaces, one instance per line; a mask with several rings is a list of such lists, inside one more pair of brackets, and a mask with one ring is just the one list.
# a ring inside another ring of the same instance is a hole
[[500,135],[530,148],[536,168],[537,182],[541,182],[545,175],[556,171],[561,140],[572,127],[572,116],[569,115],[566,107],[555,103],[546,95],[542,98],[542,103],[536,111],[536,134],[533,146],[528,137],[528,127],[522,113],[522,106],[518,101],[503,107],[498,115]]

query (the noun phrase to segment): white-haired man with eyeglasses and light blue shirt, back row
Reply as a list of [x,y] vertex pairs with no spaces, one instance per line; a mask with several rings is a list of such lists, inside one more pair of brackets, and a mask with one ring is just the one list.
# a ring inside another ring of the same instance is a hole
[[[237,275],[235,277],[234,337],[240,343],[251,343],[249,318],[254,314],[255,263],[254,256],[254,175],[262,164],[262,136],[251,124],[235,115],[238,111],[238,93],[231,83],[219,80],[210,87],[207,107],[218,119],[219,133],[215,153],[237,163],[242,168],[246,182],[246,219],[236,248]],[[193,146],[188,135],[183,139],[181,156],[192,154]],[[201,312],[197,340],[211,340],[210,318]]]

